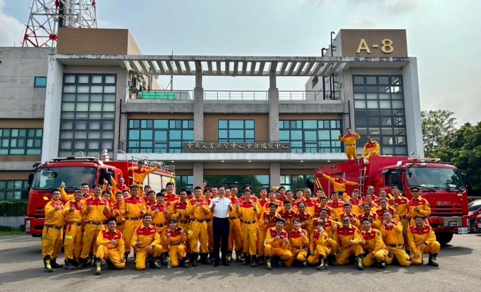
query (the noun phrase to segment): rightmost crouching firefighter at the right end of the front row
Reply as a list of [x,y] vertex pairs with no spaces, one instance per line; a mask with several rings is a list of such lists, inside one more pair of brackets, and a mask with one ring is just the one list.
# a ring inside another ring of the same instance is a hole
[[412,250],[412,264],[422,264],[422,255],[429,254],[428,264],[438,266],[436,256],[439,253],[440,244],[436,241],[436,235],[431,226],[424,224],[424,217],[414,216],[414,225],[409,226],[407,242]]

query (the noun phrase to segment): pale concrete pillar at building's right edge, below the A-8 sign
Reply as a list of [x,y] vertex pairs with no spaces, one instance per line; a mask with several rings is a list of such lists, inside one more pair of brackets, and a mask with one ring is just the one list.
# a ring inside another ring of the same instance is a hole
[[409,63],[402,68],[402,79],[407,153],[417,152],[423,157],[421,103],[419,101],[419,79],[417,76],[417,59],[415,57],[410,57]]

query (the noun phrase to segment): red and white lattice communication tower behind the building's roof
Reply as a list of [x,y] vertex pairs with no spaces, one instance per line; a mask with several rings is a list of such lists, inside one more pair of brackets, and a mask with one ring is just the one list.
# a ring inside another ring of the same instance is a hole
[[22,46],[56,46],[59,27],[97,28],[95,9],[95,0],[32,0]]

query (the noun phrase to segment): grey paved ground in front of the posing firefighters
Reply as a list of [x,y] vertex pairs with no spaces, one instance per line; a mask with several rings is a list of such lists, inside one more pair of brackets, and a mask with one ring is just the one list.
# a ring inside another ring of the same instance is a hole
[[[104,269],[95,276],[93,267],[45,273],[39,238],[0,236],[0,291],[480,291],[481,235],[454,235],[450,243],[438,256],[440,267],[388,266],[358,271],[349,265],[331,266],[325,272],[315,267],[268,271],[263,266],[233,263],[230,267],[136,271],[129,261],[125,270]],[[132,285],[136,288],[129,289]]]

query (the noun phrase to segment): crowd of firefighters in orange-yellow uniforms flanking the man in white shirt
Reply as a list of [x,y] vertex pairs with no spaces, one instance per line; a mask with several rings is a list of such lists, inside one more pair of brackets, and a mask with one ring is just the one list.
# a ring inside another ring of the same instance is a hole
[[96,274],[101,274],[103,260],[109,267],[124,268],[131,249],[138,270],[147,260],[151,268],[161,268],[162,263],[211,264],[211,199],[219,195],[232,203],[225,265],[233,253],[237,262],[265,264],[267,269],[276,261],[279,266],[297,262],[325,270],[329,263],[342,265],[352,259],[358,269],[374,264],[384,268],[394,260],[409,266],[422,264],[423,254],[429,254],[428,264],[438,265],[440,244],[425,219],[431,212],[429,203],[415,186],[411,200],[395,186],[391,193],[380,190],[378,195],[368,186],[361,197],[358,189],[345,192],[346,184],[356,182],[341,178],[341,173],[337,178],[321,173],[334,186],[329,198],[322,189],[313,197],[310,188],[294,193],[283,186],[277,191],[262,188],[258,198],[250,186],[238,195],[235,185],[210,188],[206,182],[193,193],[181,189],[175,194],[171,182],[156,193],[148,185],[141,187],[155,170],[139,163],[131,169],[134,184],[111,179],[110,184],[96,185],[93,193],[87,184],[71,195],[64,183],[52,189],[42,233],[44,270],[64,267],[57,263],[62,243],[66,269],[93,264]]

